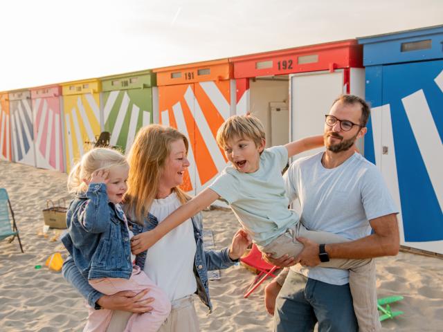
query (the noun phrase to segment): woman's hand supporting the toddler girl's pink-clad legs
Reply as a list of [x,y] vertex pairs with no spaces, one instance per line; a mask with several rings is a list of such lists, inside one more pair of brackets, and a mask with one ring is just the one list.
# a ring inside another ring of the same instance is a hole
[[145,289],[138,294],[132,291],[121,291],[114,295],[103,295],[98,299],[97,304],[109,310],[149,313],[152,311],[152,306],[149,304],[154,301],[154,298],[147,297],[147,299],[143,299],[148,292],[149,289]]

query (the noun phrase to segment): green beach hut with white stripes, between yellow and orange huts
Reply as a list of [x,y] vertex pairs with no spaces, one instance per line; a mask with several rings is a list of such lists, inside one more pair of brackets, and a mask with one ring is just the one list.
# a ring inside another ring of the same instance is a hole
[[152,71],[139,71],[100,79],[103,122],[105,131],[111,133],[110,145],[129,151],[138,129],[152,123],[158,96],[155,77]]

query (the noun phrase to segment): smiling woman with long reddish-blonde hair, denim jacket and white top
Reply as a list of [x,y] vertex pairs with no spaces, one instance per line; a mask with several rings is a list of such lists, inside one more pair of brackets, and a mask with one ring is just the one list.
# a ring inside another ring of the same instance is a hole
[[[143,225],[143,230],[152,229],[188,200],[179,188],[189,166],[188,147],[186,136],[170,127],[152,124],[138,131],[129,151],[129,190],[125,197],[127,216],[138,223],[138,228]],[[201,214],[197,214],[152,246],[144,271],[172,302],[170,316],[159,331],[199,331],[191,295],[197,293],[211,311],[207,271],[232,266],[250,243],[246,232],[239,230],[230,248],[204,250]],[[97,309],[133,313],[151,309],[150,300],[141,300],[147,291],[138,295],[125,291],[109,296],[95,291],[80,275],[71,257],[64,263],[63,275],[89,305]],[[109,329],[121,331],[120,326],[125,326],[127,317],[129,315],[114,313]]]

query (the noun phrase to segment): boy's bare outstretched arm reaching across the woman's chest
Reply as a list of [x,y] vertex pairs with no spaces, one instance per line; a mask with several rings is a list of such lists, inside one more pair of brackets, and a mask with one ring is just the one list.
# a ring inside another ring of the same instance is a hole
[[188,201],[188,203],[181,205],[180,208],[172,212],[165,220],[159,223],[154,230],[143,232],[133,237],[131,239],[132,253],[137,255],[147,250],[147,248],[152,247],[154,243],[159,241],[165,234],[190,219],[191,216],[195,216],[195,214],[214,203],[217,199],[219,199],[219,195],[215,191],[206,188]]

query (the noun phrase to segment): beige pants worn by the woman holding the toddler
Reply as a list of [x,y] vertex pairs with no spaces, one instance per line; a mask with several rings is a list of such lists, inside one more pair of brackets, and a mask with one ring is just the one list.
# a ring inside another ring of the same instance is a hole
[[[159,332],[199,332],[199,319],[195,312],[194,299],[185,297],[172,301],[172,309],[168,318]],[[111,323],[107,332],[122,332],[125,330],[127,320],[131,317],[131,313],[127,311],[114,311],[111,317]],[[141,331],[143,332],[143,331]]]

